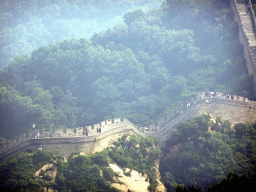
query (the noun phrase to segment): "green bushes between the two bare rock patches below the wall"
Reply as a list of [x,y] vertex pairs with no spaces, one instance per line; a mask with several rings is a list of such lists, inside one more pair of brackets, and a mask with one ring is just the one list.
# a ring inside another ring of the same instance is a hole
[[113,181],[115,176],[113,170],[108,168],[107,158],[107,153],[103,151],[58,163],[55,188],[61,191],[119,191],[107,182]]

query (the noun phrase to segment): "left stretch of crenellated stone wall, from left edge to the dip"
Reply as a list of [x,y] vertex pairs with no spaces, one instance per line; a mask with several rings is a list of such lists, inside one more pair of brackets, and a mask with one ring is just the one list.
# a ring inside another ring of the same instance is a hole
[[[97,128],[101,132],[97,133]],[[85,130],[89,134],[85,134]],[[78,127],[75,129],[43,129],[34,130],[28,134],[18,137],[17,141],[12,140],[0,147],[0,161],[9,158],[11,155],[24,149],[42,148],[46,151],[53,151],[58,154],[69,156],[72,153],[91,153],[101,149],[101,141],[124,133],[140,133],[134,125],[127,119],[115,118],[107,119],[101,123]]]

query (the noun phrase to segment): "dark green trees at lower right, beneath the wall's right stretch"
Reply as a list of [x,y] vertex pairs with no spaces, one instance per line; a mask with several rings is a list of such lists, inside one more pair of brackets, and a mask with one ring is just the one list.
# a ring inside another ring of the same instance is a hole
[[255,175],[256,123],[236,124],[203,115],[180,123],[166,142],[160,171],[165,186],[206,190],[227,176]]

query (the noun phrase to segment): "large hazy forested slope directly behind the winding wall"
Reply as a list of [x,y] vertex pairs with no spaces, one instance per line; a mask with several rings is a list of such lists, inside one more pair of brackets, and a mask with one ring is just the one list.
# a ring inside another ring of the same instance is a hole
[[[123,24],[16,57],[0,72],[0,136],[126,117],[149,125],[201,91],[252,99],[238,25],[225,2],[168,1]],[[219,5],[219,6],[217,6]]]

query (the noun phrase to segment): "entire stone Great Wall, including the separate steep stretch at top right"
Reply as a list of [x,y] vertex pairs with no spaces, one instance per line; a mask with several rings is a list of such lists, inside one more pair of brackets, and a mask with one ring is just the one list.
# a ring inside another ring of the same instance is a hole
[[[249,10],[247,10],[247,2],[251,7]],[[253,76],[256,85],[256,18],[251,1],[231,0],[231,9],[239,24],[239,39],[244,45],[244,57],[248,73]],[[24,149],[35,148],[64,156],[79,152],[93,153],[109,146],[125,133],[155,137],[160,141],[159,146],[162,146],[176,124],[205,113],[229,120],[231,123],[256,121],[256,102],[247,98],[238,96],[226,97],[225,99],[223,97],[203,97],[195,98],[195,101],[194,105],[183,109],[182,113],[181,110],[178,115],[176,112],[172,112],[159,119],[146,129],[147,132],[144,132],[145,129],[139,131],[129,120],[119,118],[88,126],[89,136],[85,136],[85,128],[66,129],[66,131],[60,129],[43,130],[37,139],[34,139],[34,133],[28,133],[20,136],[17,141],[11,141],[1,146],[0,161],[8,159]],[[97,128],[102,129],[100,134],[97,134]]]

